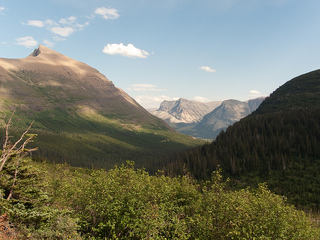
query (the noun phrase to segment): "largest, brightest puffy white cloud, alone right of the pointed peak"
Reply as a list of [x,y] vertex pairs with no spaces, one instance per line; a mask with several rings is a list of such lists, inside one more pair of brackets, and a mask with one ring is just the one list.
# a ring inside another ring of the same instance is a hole
[[116,44],[107,44],[104,46],[103,50],[106,54],[116,55],[119,54],[121,56],[127,56],[131,58],[140,57],[140,58],[146,58],[147,55],[149,55],[148,52],[145,50],[141,50],[139,48],[136,48],[131,43],[129,43],[127,46],[123,45],[123,43]]

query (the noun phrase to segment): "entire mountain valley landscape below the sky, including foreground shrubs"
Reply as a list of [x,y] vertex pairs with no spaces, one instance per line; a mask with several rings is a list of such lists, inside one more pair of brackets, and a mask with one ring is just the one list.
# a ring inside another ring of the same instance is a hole
[[318,239],[319,86],[151,114],[45,46],[0,58],[0,237]]

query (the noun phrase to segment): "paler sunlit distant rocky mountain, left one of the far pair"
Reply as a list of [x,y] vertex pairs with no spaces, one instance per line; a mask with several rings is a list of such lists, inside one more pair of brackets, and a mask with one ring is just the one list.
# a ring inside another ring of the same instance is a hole
[[179,98],[175,101],[164,100],[160,107],[151,113],[167,123],[196,123],[220,103],[220,101],[202,103],[185,98]]

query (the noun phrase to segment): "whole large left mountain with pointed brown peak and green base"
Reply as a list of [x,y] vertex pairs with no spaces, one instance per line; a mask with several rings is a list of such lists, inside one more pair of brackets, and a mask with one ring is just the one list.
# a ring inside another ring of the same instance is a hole
[[76,166],[136,160],[137,166],[156,168],[150,155],[199,143],[150,114],[98,70],[42,45],[25,58],[0,58],[1,124],[12,109],[11,133],[34,120],[37,154]]

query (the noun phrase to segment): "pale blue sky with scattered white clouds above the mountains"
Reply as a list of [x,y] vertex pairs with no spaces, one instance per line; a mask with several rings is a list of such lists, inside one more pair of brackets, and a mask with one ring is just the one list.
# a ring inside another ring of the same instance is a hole
[[319,0],[0,0],[0,57],[45,45],[144,108],[268,96],[320,68]]

